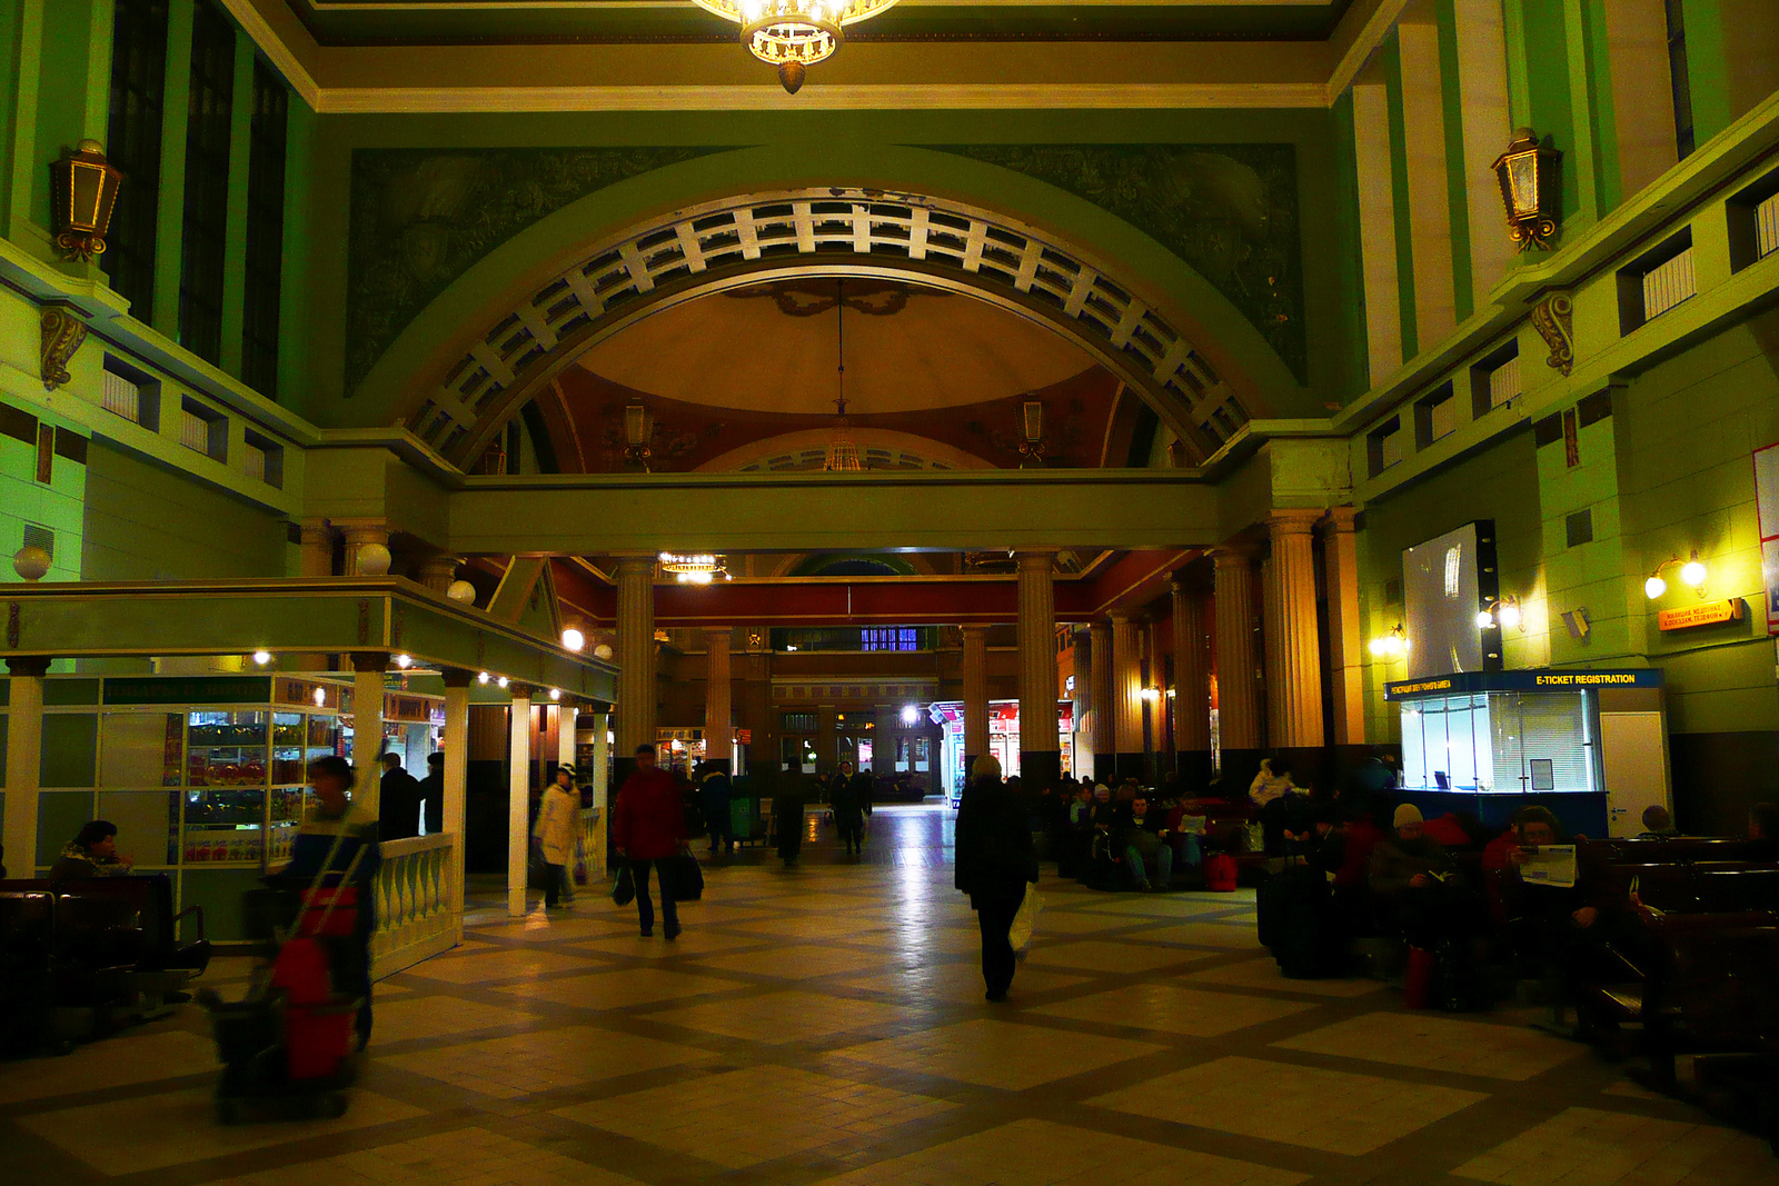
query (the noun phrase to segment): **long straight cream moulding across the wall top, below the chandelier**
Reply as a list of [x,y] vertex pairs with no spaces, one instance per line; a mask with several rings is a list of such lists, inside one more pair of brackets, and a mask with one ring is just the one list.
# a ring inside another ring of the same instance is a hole
[[[304,96],[308,98],[308,96]],[[662,112],[662,110],[1055,110],[1055,108],[1283,108],[1327,107],[1315,82],[1163,84],[809,84],[797,94],[770,85],[628,87],[324,87],[311,107],[324,116],[468,112]]]

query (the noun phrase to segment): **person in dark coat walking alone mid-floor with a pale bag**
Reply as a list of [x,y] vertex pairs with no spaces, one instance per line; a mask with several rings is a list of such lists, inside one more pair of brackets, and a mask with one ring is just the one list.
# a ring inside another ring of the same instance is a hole
[[1025,805],[1000,781],[993,754],[977,757],[975,775],[957,807],[957,887],[970,894],[970,907],[982,928],[982,982],[987,999],[1005,1001],[1012,985],[1012,942],[1007,932],[1025,900],[1025,887],[1037,884],[1037,853]]

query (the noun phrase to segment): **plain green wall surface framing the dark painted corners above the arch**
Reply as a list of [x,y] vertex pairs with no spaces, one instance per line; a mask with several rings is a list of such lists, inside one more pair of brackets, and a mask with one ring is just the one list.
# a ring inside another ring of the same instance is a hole
[[[411,359],[393,366],[397,379],[374,381],[350,400],[343,398],[345,309],[338,293],[345,286],[350,212],[350,156],[359,148],[432,148],[432,149],[523,149],[523,148],[660,148],[696,146],[751,149],[740,155],[713,155],[662,169],[632,181],[600,190],[569,212],[551,215],[544,224],[560,233],[516,235],[484,258],[416,318],[409,334],[431,350],[441,338],[461,333],[487,317],[487,293],[521,279],[548,274],[576,247],[632,226],[642,212],[662,213],[678,206],[769,187],[820,183],[886,185],[916,188],[941,197],[957,197],[991,206],[1041,228],[1051,228],[1064,240],[1099,249],[1108,265],[1123,265],[1124,274],[1155,281],[1165,276],[1167,256],[1155,240],[1137,233],[1089,203],[1055,187],[991,169],[955,153],[907,153],[909,148],[934,149],[955,146],[1042,146],[1042,144],[1292,144],[1297,153],[1297,185],[1302,242],[1302,286],[1306,295],[1308,386],[1290,379],[1277,356],[1261,343],[1274,361],[1279,381],[1268,373],[1267,400],[1272,414],[1320,413],[1331,400],[1350,397],[1357,386],[1350,372],[1347,311],[1340,301],[1343,268],[1338,260],[1338,210],[1325,201],[1336,183],[1331,117],[1324,110],[1195,110],[1195,112],[922,112],[911,119],[904,112],[669,112],[669,114],[553,114],[553,116],[322,116],[313,135],[313,167],[308,176],[308,201],[313,217],[308,226],[310,252],[310,324],[315,334],[310,398],[299,409],[326,425],[388,423],[397,411],[400,375],[411,373]],[[809,153],[802,146],[824,146]],[[761,164],[767,153],[779,165]],[[863,162],[863,164],[861,164]],[[767,171],[765,180],[753,176]],[[747,171],[745,181],[737,180]],[[987,183],[984,178],[1005,178]],[[628,203],[628,204],[626,204]],[[573,212],[573,217],[569,213]],[[1121,238],[1096,242],[1085,229],[1098,213]],[[573,229],[566,229],[573,228]],[[1181,268],[1176,261],[1171,268]],[[1117,272],[1114,272],[1115,276]],[[1199,284],[1208,290],[1208,284]],[[473,292],[470,292],[473,290]],[[1169,293],[1172,295],[1172,293]],[[1213,336],[1228,325],[1229,338],[1258,340],[1247,322],[1220,299],[1188,306]],[[1220,306],[1220,308],[1219,308]],[[432,320],[429,320],[432,318]],[[400,345],[400,340],[398,340]],[[1245,349],[1245,347],[1244,347]],[[384,357],[398,352],[391,349]],[[295,393],[292,398],[297,398]]]

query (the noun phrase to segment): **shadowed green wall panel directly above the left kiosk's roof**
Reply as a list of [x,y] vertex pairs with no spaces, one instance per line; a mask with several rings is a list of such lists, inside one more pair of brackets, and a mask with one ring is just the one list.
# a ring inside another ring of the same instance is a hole
[[281,517],[100,441],[87,453],[84,580],[288,576]]

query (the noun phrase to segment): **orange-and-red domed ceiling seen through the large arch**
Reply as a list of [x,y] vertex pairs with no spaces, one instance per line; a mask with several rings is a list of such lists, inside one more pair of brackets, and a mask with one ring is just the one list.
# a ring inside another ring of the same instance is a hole
[[[849,277],[699,297],[598,343],[528,409],[539,462],[639,468],[624,409],[642,405],[651,471],[820,469],[841,322],[847,432],[866,469],[1147,461],[1153,414],[1062,336],[968,295]],[[1028,402],[1042,405],[1035,452]]]

